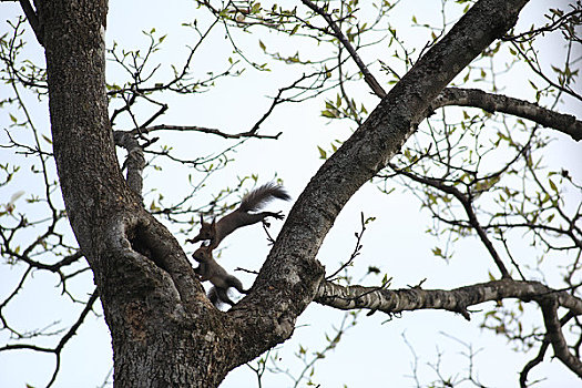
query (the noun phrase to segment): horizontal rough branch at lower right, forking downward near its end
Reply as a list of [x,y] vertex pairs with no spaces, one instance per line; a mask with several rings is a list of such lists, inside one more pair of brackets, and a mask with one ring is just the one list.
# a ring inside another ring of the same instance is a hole
[[[406,310],[445,309],[461,314],[470,319],[468,308],[484,302],[497,302],[517,298],[523,302],[537,302],[542,310],[547,334],[538,357],[528,363],[521,372],[520,384],[525,386],[528,372],[538,365],[551,344],[558,357],[570,370],[582,377],[582,363],[569,350],[562,334],[562,326],[573,316],[582,315],[582,300],[566,290],[552,289],[539,282],[502,279],[451,290],[421,289],[384,289],[381,287],[340,286],[323,282],[315,302],[338,309],[368,308],[372,313],[397,314]],[[569,313],[558,318],[558,308],[565,307]]]

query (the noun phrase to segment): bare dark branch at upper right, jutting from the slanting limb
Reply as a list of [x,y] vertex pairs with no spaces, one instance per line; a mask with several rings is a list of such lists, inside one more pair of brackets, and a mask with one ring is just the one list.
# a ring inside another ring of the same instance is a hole
[[512,114],[565,133],[575,141],[582,140],[582,121],[575,116],[507,95],[487,93],[479,89],[447,88],[435,99],[430,110],[447,105],[481,108],[490,113]]

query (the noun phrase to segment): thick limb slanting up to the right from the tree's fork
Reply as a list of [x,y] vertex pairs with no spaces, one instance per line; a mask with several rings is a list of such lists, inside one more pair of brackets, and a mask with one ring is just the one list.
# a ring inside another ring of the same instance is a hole
[[[324,163],[290,211],[252,293],[228,312],[241,338],[234,365],[248,361],[257,350],[264,351],[293,333],[297,316],[324,278],[315,256],[340,210],[400,150],[413,132],[412,124],[423,119],[441,90],[514,25],[527,2],[478,1]],[[262,344],[251,340],[251,333],[258,331],[264,333]]]

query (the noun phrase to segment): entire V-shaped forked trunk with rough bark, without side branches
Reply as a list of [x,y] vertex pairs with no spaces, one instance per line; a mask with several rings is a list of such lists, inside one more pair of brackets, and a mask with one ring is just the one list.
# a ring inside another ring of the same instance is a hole
[[119,387],[213,387],[287,339],[324,277],[317,251],[351,195],[381,170],[430,102],[511,28],[525,0],[479,1],[382,99],[297,200],[251,294],[206,299],[173,236],[123,180],[108,120],[106,2],[39,2],[54,155],[71,225],[112,333]]

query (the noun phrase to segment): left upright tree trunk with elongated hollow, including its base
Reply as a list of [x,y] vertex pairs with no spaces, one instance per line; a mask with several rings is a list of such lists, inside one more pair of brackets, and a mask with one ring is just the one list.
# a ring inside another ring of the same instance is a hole
[[177,242],[129,190],[105,95],[105,1],[42,2],[53,151],[94,273],[119,387],[216,386],[229,348]]

